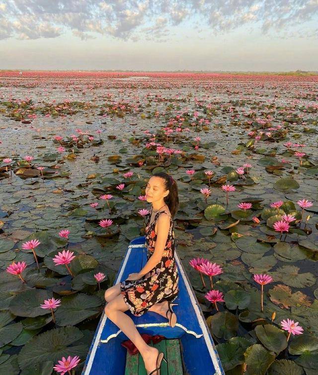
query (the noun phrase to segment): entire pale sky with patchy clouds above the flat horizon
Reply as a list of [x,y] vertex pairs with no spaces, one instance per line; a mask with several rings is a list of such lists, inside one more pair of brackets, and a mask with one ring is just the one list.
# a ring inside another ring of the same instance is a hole
[[318,71],[318,0],[0,0],[0,69]]

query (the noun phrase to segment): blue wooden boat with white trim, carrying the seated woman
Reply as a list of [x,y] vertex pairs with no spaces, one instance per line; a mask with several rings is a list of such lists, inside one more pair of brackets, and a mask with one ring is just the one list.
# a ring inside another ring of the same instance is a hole
[[[174,306],[177,324],[171,328],[167,319],[153,311],[148,311],[142,316],[134,316],[129,310],[125,313],[133,319],[141,334],[162,335],[167,339],[179,340],[183,374],[224,374],[211,333],[177,251],[175,260],[179,272],[179,294],[174,300],[174,303],[178,303]],[[145,237],[137,237],[128,246],[114,285],[126,280],[130,273],[141,270],[146,263]],[[120,343],[127,339],[127,336],[103,313],[82,374],[124,375],[127,350]]]

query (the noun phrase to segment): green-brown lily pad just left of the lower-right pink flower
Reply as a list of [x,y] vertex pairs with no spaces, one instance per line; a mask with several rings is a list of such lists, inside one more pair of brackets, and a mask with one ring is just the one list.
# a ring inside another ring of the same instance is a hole
[[268,350],[279,354],[287,348],[287,337],[285,333],[273,324],[257,325],[255,332],[258,340]]

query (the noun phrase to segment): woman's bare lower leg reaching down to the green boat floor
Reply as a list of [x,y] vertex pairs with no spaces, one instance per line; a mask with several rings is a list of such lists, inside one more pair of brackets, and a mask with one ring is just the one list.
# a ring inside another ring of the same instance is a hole
[[159,351],[146,344],[133,320],[125,314],[124,311],[127,310],[128,306],[123,296],[119,295],[106,304],[105,314],[134,343],[143,357],[147,374],[150,374],[156,369]]

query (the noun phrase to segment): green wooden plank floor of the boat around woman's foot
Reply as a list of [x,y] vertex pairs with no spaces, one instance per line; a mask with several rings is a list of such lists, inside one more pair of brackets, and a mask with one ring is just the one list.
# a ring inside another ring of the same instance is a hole
[[[167,364],[162,360],[160,375],[183,375],[180,344],[178,339],[161,340],[153,345],[164,353]],[[131,356],[127,351],[125,375],[147,375],[143,357],[138,353]]]

